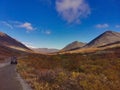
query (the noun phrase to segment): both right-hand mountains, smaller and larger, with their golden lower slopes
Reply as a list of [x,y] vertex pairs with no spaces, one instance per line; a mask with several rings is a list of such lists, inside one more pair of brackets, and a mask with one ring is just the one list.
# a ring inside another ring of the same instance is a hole
[[114,31],[106,31],[87,44],[79,41],[72,42],[64,47],[61,52],[78,51],[81,49],[85,50],[88,48],[103,48],[116,45],[120,45],[120,33]]

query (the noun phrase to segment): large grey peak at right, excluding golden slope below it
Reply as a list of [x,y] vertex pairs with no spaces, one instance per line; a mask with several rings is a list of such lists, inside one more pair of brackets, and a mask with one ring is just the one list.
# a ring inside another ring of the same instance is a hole
[[115,44],[120,41],[120,33],[114,31],[106,31],[103,34],[99,35],[97,38],[92,40],[90,43],[84,47],[101,47],[110,44]]

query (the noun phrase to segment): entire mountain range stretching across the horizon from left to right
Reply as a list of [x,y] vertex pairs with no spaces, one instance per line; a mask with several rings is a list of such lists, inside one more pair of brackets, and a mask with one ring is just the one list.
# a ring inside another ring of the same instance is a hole
[[[0,53],[4,54],[4,51],[11,53],[11,51],[32,51],[37,53],[55,53],[55,52],[66,52],[66,51],[75,51],[87,48],[103,48],[108,46],[120,45],[120,33],[114,31],[106,31],[90,41],[89,43],[83,43],[79,41],[74,41],[66,45],[63,49],[48,49],[48,48],[29,48],[19,42],[18,40],[10,37],[9,35],[0,32]],[[8,51],[6,51],[6,49]],[[2,55],[1,54],[1,55]]]

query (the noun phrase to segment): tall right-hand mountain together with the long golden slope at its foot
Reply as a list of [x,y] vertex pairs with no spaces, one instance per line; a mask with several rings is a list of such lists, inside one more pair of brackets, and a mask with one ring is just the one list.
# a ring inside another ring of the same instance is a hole
[[120,46],[120,33],[114,31],[106,31],[99,35],[91,42],[83,46],[82,48],[76,48],[68,51],[60,52],[65,53],[85,53],[85,52],[96,52],[107,48],[114,48]]

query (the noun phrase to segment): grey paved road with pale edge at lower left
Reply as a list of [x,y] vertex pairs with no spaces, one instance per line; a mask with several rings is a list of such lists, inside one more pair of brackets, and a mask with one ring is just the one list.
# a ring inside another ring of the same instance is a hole
[[16,72],[16,65],[0,64],[0,90],[31,90]]

